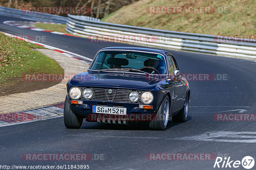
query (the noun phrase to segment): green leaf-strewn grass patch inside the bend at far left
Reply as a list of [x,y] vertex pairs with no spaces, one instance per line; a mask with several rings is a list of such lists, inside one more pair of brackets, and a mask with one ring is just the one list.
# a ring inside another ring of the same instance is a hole
[[55,60],[32,50],[43,47],[17,39],[7,41],[10,39],[4,34],[0,37],[0,87],[17,84],[24,74],[64,73]]

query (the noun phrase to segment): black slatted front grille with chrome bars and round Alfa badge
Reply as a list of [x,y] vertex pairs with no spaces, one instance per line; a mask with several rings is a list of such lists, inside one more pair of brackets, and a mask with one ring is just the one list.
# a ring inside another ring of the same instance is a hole
[[[80,87],[82,92],[85,87]],[[115,89],[115,88],[90,88],[92,89],[94,95],[92,100],[99,100],[99,101],[110,101],[110,102],[123,102],[123,103],[134,103],[130,102],[128,99],[128,95],[131,91],[137,91],[139,93],[139,100],[136,103],[142,103],[140,96],[143,93],[143,91],[140,90],[131,90],[131,89]],[[112,90],[112,93],[109,93],[109,90]],[[81,99],[84,99],[84,96],[81,97]]]

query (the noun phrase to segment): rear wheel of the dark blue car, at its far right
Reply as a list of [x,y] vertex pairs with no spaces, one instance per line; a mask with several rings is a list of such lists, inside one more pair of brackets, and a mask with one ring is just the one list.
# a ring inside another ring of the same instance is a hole
[[[186,122],[188,117],[188,93],[184,101],[184,106],[177,115],[172,116],[173,122]],[[186,113],[187,112],[187,113]]]

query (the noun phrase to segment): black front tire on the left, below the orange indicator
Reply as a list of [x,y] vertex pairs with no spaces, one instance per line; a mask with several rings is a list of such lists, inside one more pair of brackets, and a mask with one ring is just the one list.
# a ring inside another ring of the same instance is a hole
[[64,124],[68,129],[79,129],[83,124],[83,117],[75,113],[68,104],[68,96],[66,96],[64,104]]

